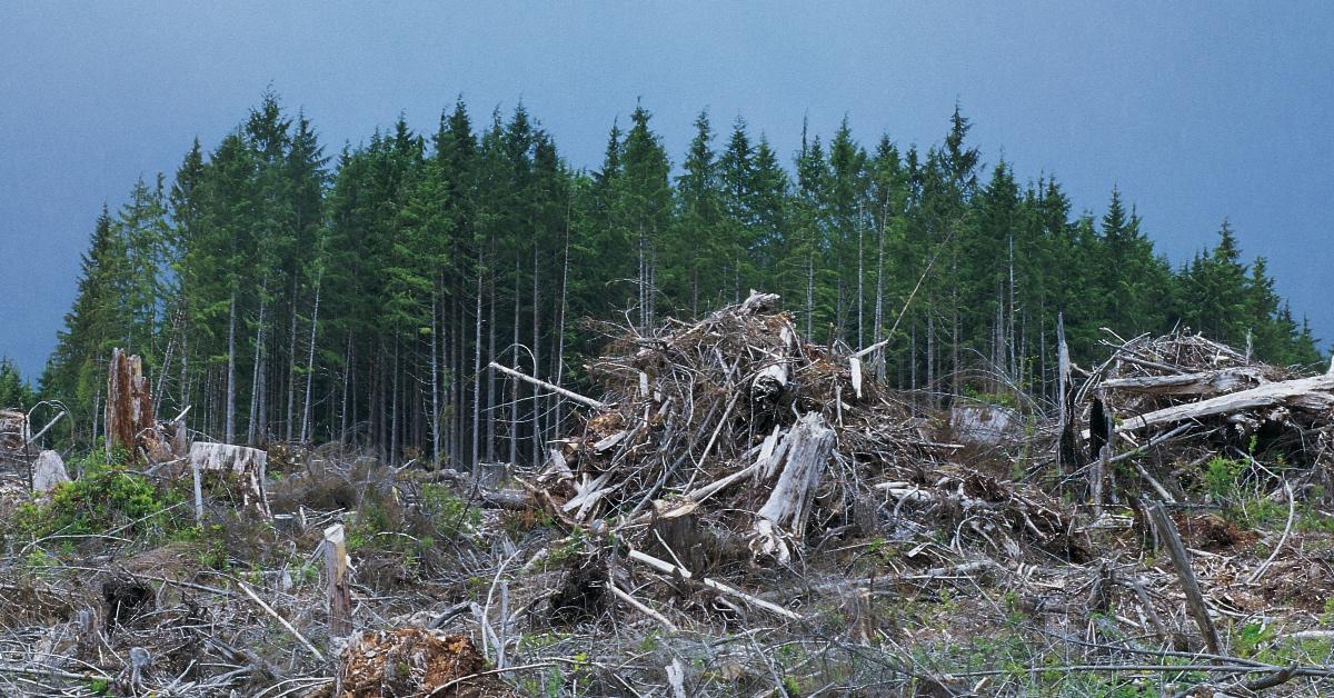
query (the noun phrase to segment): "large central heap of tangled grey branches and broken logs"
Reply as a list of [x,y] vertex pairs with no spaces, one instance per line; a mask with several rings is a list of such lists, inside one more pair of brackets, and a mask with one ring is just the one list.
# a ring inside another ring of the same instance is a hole
[[788,566],[884,531],[1083,557],[1050,496],[954,462],[963,447],[943,443],[938,414],[863,380],[848,347],[800,338],[778,300],[752,292],[615,339],[588,367],[600,395],[563,391],[594,411],[526,482],[532,499],[571,529],[616,533],[648,565],[671,561],[658,565],[670,574]]

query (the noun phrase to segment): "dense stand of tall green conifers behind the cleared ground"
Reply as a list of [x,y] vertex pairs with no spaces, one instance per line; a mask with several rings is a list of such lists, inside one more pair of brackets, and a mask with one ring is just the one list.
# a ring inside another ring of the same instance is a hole
[[674,165],[636,105],[588,171],[522,104],[475,125],[460,99],[434,133],[400,117],[329,156],[265,93],[169,180],[104,207],[39,394],[91,415],[67,438],[96,439],[119,346],[143,355],[159,411],[189,406],[209,438],[532,462],[570,406],[488,362],[578,390],[608,323],[647,330],[750,288],[782,294],[816,342],[891,339],[872,370],[934,400],[1050,396],[1058,314],[1082,363],[1105,327],[1178,326],[1321,359],[1226,222],[1173,268],[1118,190],[1075,215],[1055,176],[984,168],[958,108],[926,149],[803,124],[790,160],[742,119],[694,127]]

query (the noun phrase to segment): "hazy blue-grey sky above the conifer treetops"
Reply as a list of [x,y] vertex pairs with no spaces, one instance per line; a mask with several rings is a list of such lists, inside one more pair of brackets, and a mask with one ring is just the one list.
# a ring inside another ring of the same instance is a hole
[[36,378],[103,204],[175,172],[264,89],[325,148],[522,99],[575,167],[636,100],[676,163],[696,113],[784,156],[802,120],[1119,187],[1174,264],[1230,220],[1334,339],[1334,3],[0,3],[0,356]]

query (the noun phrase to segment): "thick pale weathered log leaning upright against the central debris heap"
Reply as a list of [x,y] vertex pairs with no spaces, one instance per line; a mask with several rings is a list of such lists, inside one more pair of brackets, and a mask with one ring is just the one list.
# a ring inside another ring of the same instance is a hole
[[779,562],[787,562],[791,549],[783,541],[784,534],[798,541],[804,537],[806,516],[810,515],[815,488],[832,450],[834,430],[823,415],[807,412],[796,420],[770,456],[771,464],[783,463],[783,472],[756,514],[752,551],[776,555]]

